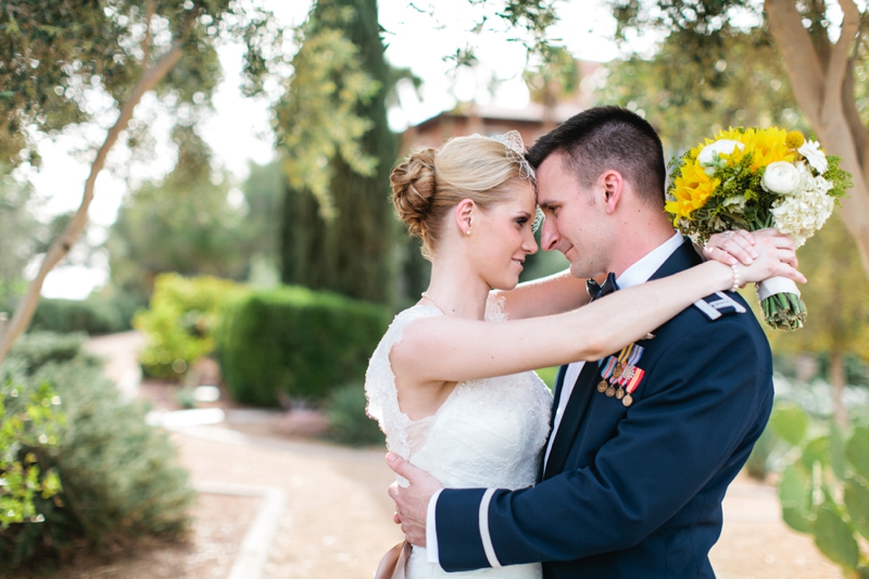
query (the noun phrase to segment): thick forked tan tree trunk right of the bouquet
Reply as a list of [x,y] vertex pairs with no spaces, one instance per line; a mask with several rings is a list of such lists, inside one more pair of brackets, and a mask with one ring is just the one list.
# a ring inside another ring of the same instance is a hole
[[[769,29],[782,51],[791,86],[818,139],[829,154],[842,158],[842,168],[854,176],[851,197],[842,201],[839,214],[860,252],[869,277],[869,173],[860,151],[867,150],[866,130],[853,123],[848,111],[855,106],[851,89],[852,43],[859,26],[859,11],[852,0],[840,2],[845,13],[842,35],[828,62],[821,62],[794,0],[766,0]],[[843,103],[847,101],[847,105]]]

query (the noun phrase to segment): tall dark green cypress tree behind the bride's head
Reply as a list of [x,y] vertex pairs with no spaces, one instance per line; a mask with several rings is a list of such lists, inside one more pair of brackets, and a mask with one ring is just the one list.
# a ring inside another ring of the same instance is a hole
[[[376,0],[318,0],[312,27],[340,28],[358,49],[361,70],[377,81],[377,90],[356,105],[370,123],[358,139],[360,150],[377,161],[363,175],[337,147],[329,161],[329,196],[333,212],[322,216],[311,191],[288,186],[282,235],[285,284],[329,289],[352,298],[391,304],[393,300],[395,224],[389,203],[389,174],[395,138],[389,129],[386,91],[389,71],[377,23]],[[335,92],[352,89],[347,76],[333,75]],[[289,154],[292,154],[290,151]]]

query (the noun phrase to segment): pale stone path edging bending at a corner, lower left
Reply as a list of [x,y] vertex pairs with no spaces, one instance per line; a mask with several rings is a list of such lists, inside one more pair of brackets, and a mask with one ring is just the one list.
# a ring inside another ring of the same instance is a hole
[[261,579],[263,567],[268,561],[278,524],[287,509],[287,493],[276,487],[253,484],[231,484],[227,482],[198,482],[197,492],[209,494],[231,494],[236,496],[261,496],[263,499],[256,517],[251,523],[241,541],[236,562],[227,579]]

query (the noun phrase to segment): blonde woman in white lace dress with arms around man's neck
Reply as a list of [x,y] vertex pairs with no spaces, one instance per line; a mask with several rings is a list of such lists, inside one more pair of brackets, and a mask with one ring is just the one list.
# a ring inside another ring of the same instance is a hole
[[[803,279],[782,237],[721,236],[709,247],[720,243],[743,255],[740,248],[755,243],[758,259],[735,265],[727,254],[722,262],[734,265],[708,261],[579,307],[589,301],[580,290],[585,281],[569,273],[516,288],[538,247],[534,176],[515,131],[458,137],[440,150],[415,152],[391,181],[399,216],[431,261],[431,282],[416,305],[395,316],[375,350],[365,381],[367,411],[391,452],[444,487],[534,483],[552,394],[533,368],[604,357],[738,282],[772,275]],[[418,546],[407,571],[410,579],[448,576]],[[450,577],[532,579],[541,577],[541,566]]]

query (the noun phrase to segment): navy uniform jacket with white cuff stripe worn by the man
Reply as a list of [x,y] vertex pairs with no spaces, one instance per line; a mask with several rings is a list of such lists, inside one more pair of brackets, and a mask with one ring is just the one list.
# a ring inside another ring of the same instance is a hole
[[[685,242],[652,279],[700,261]],[[745,307],[738,294],[725,295],[717,305]],[[547,579],[715,577],[707,554],[721,531],[725,491],[772,405],[772,360],[754,315],[713,319],[716,312],[689,307],[638,342],[644,374],[629,406],[597,391],[601,367],[587,363],[536,487],[443,490],[441,566],[543,562]],[[562,367],[553,408],[564,375]]]

